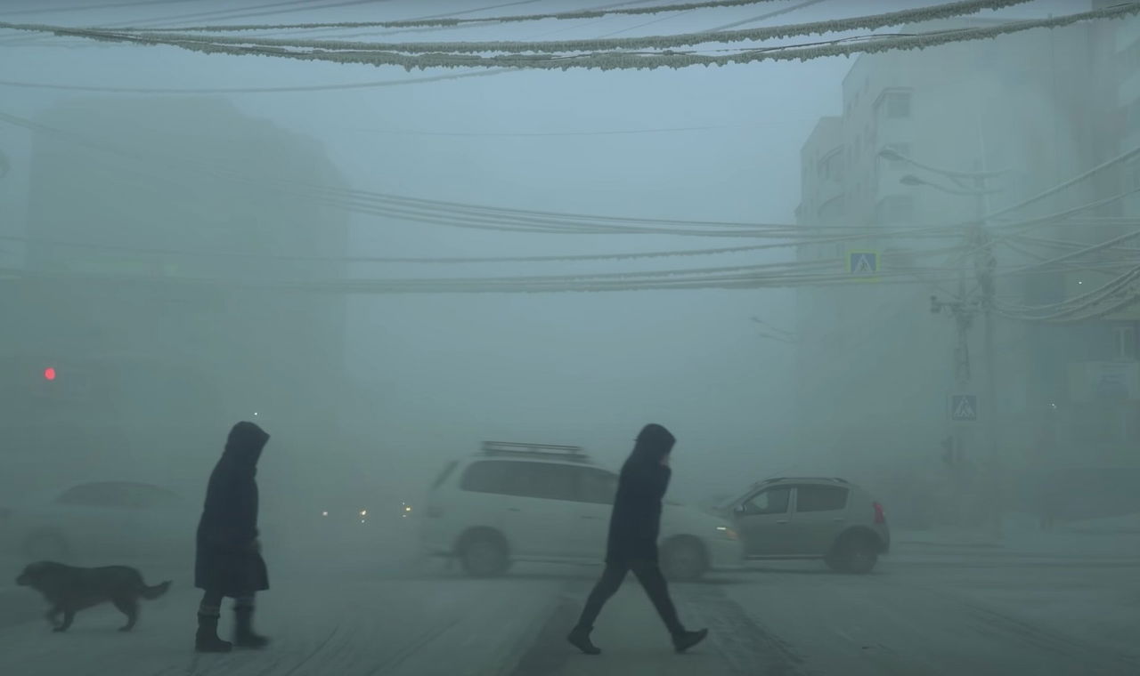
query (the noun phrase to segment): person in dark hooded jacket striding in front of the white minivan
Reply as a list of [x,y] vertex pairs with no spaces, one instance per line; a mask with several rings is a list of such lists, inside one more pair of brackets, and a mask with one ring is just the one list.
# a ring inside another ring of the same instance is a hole
[[708,629],[690,632],[677,618],[669,590],[658,564],[657,538],[661,528],[661,500],[669,487],[669,454],[676,439],[660,424],[646,424],[633,453],[621,467],[618,494],[610,514],[610,531],[605,547],[605,570],[586,600],[578,624],[568,640],[587,654],[602,651],[589,640],[602,605],[618,591],[630,570],[637,577],[650,601],[673,636],[677,652],[697,645]]

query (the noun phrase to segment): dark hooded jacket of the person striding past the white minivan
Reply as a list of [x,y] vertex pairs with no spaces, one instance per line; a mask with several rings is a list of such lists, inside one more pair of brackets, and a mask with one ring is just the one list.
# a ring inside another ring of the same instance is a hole
[[621,467],[618,493],[610,514],[605,562],[626,564],[658,560],[657,538],[661,531],[661,500],[671,471],[661,460],[676,439],[660,424],[649,424],[637,435],[633,453]]

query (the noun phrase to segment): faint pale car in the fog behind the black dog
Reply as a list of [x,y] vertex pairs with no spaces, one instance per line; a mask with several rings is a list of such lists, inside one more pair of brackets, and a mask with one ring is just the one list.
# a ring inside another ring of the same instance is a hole
[[5,549],[80,564],[187,559],[201,505],[150,484],[79,484],[10,509]]

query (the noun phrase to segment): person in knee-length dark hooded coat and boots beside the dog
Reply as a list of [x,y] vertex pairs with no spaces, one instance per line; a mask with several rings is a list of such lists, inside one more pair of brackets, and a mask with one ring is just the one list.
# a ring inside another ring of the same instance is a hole
[[[258,459],[269,435],[252,422],[229,431],[226,450],[214,465],[198,521],[194,586],[205,592],[198,608],[198,652],[264,648],[268,638],[253,632],[253,597],[269,588],[269,574],[258,539]],[[222,597],[234,599],[234,643],[218,637]]]

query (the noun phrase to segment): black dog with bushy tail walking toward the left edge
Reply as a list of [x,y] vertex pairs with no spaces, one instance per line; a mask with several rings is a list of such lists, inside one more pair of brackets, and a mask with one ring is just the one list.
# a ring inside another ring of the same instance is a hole
[[[66,632],[80,610],[111,602],[127,616],[120,632],[130,632],[139,618],[139,599],[153,601],[170,590],[170,580],[155,586],[142,582],[142,574],[129,566],[76,568],[54,561],[31,563],[16,584],[32,587],[51,604],[48,621],[56,632]],[[60,623],[59,616],[64,619]]]

